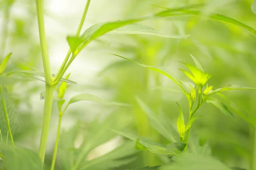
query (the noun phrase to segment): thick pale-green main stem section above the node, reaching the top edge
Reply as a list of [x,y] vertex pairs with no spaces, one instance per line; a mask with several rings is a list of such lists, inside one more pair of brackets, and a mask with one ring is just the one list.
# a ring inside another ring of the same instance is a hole
[[45,37],[43,0],[36,0],[36,11],[37,11],[37,17],[38,17],[38,29],[39,29],[41,53],[42,53],[42,59],[43,59],[43,65],[44,65],[45,81],[51,84],[52,75],[50,70],[47,42]]

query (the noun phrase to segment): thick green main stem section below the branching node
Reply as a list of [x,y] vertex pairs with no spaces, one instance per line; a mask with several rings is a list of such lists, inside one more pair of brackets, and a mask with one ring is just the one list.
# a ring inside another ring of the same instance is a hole
[[44,162],[47,136],[49,131],[51,112],[52,112],[52,99],[55,87],[46,85],[45,87],[45,101],[44,101],[44,118],[43,127],[41,132],[40,146],[39,146],[39,157],[42,162]]

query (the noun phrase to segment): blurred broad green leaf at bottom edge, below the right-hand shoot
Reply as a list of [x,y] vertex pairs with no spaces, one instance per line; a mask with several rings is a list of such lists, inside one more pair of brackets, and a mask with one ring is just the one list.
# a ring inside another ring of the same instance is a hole
[[161,170],[231,170],[218,159],[211,156],[183,153],[177,161]]

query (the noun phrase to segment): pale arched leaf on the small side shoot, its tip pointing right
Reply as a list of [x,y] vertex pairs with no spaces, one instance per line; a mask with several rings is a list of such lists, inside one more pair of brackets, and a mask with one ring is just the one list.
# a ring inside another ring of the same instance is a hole
[[[130,106],[128,104],[125,104],[125,103],[118,103],[118,102],[106,102],[102,99],[100,99],[99,97],[97,96],[94,96],[93,94],[79,94],[79,95],[76,95],[76,96],[73,96],[70,101],[67,103],[66,105],[66,108],[71,105],[72,103],[75,103],[75,102],[80,102],[80,101],[93,101],[93,102],[100,102],[102,104],[105,104],[105,105],[117,105],[117,106]],[[65,108],[65,109],[66,109]],[[64,110],[65,110],[64,109]]]

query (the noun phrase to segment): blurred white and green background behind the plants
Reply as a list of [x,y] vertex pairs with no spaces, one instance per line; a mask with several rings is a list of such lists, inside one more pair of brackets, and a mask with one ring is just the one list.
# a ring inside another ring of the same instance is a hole
[[[86,2],[46,0],[44,3],[49,57],[54,74],[68,51],[66,36],[75,34]],[[92,0],[83,30],[99,22],[140,17],[162,10],[151,4],[176,8],[200,3],[205,4],[200,11],[223,14],[256,28],[256,14],[253,14],[250,7],[252,0]],[[34,0],[0,0],[0,19],[1,59],[9,52],[13,53],[8,71],[31,68],[43,71]],[[248,31],[199,16],[176,16],[142,23],[160,32],[190,34],[190,37],[170,39],[144,35],[107,35],[91,43],[67,71],[71,73],[70,79],[78,84],[68,88],[65,98],[90,93],[102,99],[129,103],[132,107],[107,107],[94,102],[76,103],[65,113],[62,131],[70,129],[78,121],[90,124],[95,117],[105,118],[119,113],[118,116],[111,117],[113,125],[130,129],[139,136],[156,142],[166,143],[166,139],[149,125],[145,113],[134,99],[135,96],[143,99],[156,112],[163,111],[172,120],[170,124],[175,124],[177,120],[178,108],[175,102],[179,102],[185,119],[188,119],[187,101],[182,94],[154,88],[177,88],[175,83],[111,53],[129,57],[145,65],[162,66],[186,81],[189,79],[178,70],[183,66],[177,61],[193,64],[189,56],[192,54],[207,73],[214,74],[208,82],[214,89],[227,84],[256,87],[256,37]],[[44,91],[44,84],[23,81],[10,86],[9,91],[17,95],[15,108],[18,128],[15,142],[38,150],[44,104],[39,97],[40,92]],[[254,91],[225,92],[228,99],[244,113],[246,109],[255,113],[255,94]],[[192,131],[200,139],[209,142],[212,155],[230,167],[248,168],[253,147],[253,129],[250,125],[239,116],[235,115],[236,119],[225,116],[208,104],[196,114],[203,117],[195,122]],[[52,159],[57,121],[55,105],[47,145],[47,164]],[[94,154],[97,156],[112,150],[118,142],[119,139],[114,139],[99,151],[94,151]],[[117,169],[158,165],[163,162],[158,156],[142,151],[136,161]],[[60,166],[59,162],[57,166]]]

